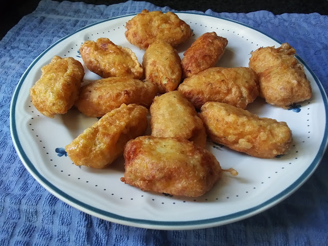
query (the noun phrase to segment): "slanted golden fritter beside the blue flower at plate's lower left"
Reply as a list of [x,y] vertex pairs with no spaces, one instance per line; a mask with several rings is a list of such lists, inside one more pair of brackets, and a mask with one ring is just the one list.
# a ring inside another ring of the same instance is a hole
[[147,129],[145,107],[122,105],[101,117],[65,147],[76,166],[104,168],[123,154],[125,144]]

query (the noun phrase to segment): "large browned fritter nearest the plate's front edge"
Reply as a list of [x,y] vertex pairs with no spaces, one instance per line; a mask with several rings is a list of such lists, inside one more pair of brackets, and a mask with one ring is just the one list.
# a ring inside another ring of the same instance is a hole
[[197,197],[209,191],[222,169],[214,155],[192,142],[153,136],[130,140],[121,181],[143,191]]

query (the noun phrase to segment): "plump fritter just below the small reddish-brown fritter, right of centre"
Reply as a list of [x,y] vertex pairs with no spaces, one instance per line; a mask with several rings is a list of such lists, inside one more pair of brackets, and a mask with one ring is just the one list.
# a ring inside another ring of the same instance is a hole
[[255,72],[250,68],[209,68],[183,80],[178,90],[196,109],[207,101],[246,108],[258,96]]

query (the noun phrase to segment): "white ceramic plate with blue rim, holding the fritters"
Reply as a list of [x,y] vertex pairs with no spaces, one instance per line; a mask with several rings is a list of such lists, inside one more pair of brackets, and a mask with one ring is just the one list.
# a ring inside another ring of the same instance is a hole
[[[194,31],[194,36],[178,48],[182,57],[202,33],[215,31],[227,37],[227,50],[217,66],[248,66],[250,52],[261,46],[280,46],[272,37],[244,24],[203,14],[177,13]],[[286,121],[293,132],[289,154],[259,159],[208,142],[222,168],[235,168],[239,175],[225,173],[213,189],[197,198],[142,192],[120,181],[124,160],[105,170],[77,167],[63,149],[79,133],[97,121],[72,109],[50,119],[31,104],[29,88],[54,55],[72,56],[81,61],[78,48],[85,40],[108,37],[117,45],[131,48],[142,61],[144,51],[125,38],[125,24],[134,15],[111,18],[82,28],[56,42],[28,67],[14,92],[11,104],[11,134],[26,169],[49,192],[71,206],[96,217],[151,229],[198,229],[218,226],[264,211],[298,189],[318,166],[327,144],[327,98],[306,64],[313,96],[291,110],[267,105],[257,99],[248,110],[261,117]],[[85,68],[86,69],[86,68]],[[85,80],[99,78],[86,69]]]

